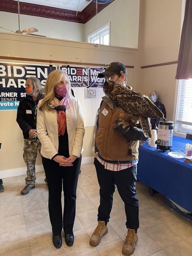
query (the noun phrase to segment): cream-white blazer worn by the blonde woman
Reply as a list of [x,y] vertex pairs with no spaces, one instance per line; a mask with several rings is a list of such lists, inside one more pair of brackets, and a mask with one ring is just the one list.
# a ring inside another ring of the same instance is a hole
[[[38,108],[41,105],[39,101]],[[79,157],[82,152],[85,133],[83,114],[78,99],[72,98],[69,108],[66,109],[66,128],[69,139],[69,155]],[[41,155],[51,159],[58,153],[58,124],[56,110],[37,111],[37,134],[41,142]]]

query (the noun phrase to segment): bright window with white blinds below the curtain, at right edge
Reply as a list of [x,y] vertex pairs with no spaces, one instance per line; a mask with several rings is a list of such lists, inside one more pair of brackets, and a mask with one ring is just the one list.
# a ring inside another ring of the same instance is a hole
[[[189,91],[192,94],[192,79],[177,80],[174,104],[174,135],[183,138],[187,131],[192,132],[192,97],[189,97]],[[188,118],[186,111],[181,112],[181,110],[188,111]]]

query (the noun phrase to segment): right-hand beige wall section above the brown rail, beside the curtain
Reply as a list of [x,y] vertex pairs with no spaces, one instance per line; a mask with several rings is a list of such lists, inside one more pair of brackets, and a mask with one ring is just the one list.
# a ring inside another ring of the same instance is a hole
[[142,66],[177,61],[182,0],[144,0]]

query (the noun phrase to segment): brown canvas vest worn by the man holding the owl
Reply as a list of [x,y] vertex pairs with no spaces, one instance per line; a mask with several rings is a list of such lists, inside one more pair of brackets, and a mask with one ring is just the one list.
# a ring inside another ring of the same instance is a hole
[[[99,111],[99,128],[95,135],[95,141],[99,154],[102,158],[109,161],[130,161],[138,159],[139,141],[128,142],[121,134],[113,131],[116,125],[116,119],[127,120],[128,115],[123,111],[114,108],[111,109],[107,102],[103,101]],[[132,149],[132,155],[129,155],[129,145]]]

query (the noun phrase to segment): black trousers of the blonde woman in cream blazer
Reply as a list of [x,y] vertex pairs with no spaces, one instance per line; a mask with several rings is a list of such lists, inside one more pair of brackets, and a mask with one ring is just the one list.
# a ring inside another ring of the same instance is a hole
[[[42,163],[49,188],[49,217],[54,235],[72,233],[75,221],[76,189],[80,158],[73,166],[59,166],[54,160],[43,157]],[[62,215],[61,193],[64,192],[64,211]]]

